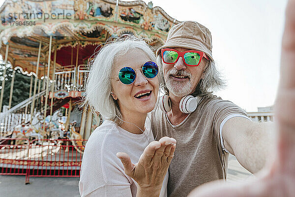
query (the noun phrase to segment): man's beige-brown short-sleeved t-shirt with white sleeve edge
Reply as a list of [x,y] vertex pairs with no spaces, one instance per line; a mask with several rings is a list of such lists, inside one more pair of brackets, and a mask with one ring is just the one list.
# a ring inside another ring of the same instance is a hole
[[203,98],[177,126],[159,106],[149,114],[156,140],[163,136],[177,140],[169,167],[168,197],[185,197],[203,183],[225,178],[229,154],[222,151],[220,125],[236,116],[248,118],[236,104],[213,95]]

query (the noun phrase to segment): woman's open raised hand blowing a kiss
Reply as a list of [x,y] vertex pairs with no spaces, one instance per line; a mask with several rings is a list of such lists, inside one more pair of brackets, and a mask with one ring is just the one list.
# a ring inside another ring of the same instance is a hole
[[132,164],[126,153],[117,153],[125,173],[139,185],[137,196],[159,197],[175,148],[176,140],[170,137],[150,142],[137,164]]

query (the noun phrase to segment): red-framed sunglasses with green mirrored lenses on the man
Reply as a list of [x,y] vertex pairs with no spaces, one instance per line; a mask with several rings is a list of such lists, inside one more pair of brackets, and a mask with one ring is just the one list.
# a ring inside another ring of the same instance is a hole
[[202,58],[209,60],[207,55],[202,51],[188,50],[188,51],[177,51],[175,49],[162,49],[161,50],[162,60],[165,64],[175,64],[179,57],[182,57],[183,63],[186,66],[199,66]]

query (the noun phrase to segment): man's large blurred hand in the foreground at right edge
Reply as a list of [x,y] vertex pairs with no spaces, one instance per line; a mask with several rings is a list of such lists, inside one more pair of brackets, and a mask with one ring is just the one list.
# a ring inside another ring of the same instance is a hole
[[257,179],[235,185],[220,181],[209,183],[195,189],[189,197],[295,196],[295,0],[289,0],[286,9],[275,118],[275,160]]

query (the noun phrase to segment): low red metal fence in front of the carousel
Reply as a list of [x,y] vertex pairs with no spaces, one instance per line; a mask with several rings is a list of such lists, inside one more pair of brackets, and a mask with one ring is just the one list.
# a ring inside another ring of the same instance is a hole
[[79,177],[86,141],[0,139],[0,175]]

